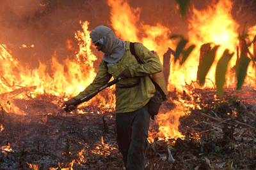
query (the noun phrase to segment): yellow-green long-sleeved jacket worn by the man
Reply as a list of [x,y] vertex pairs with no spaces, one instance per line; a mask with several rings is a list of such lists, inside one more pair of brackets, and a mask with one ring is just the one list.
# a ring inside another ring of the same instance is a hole
[[[129,45],[130,42],[126,41],[124,57],[115,65],[107,67],[106,62],[102,60],[93,82],[74,98],[82,99],[84,96],[99,89],[102,85],[106,85],[112,76],[116,78],[116,76],[128,67],[132,78],[120,80],[116,83],[116,113],[135,111],[145,106],[156,92],[154,84],[147,75],[159,73],[163,70],[163,65],[157,59],[156,55],[151,53],[141,43],[135,44],[135,52],[144,64],[138,64],[136,58],[130,52]],[[135,87],[127,89],[119,88],[136,84],[138,78],[140,78],[140,83]]]

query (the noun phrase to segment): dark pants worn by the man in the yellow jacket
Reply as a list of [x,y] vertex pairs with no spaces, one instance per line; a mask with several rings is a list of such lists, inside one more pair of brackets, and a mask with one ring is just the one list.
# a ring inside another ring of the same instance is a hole
[[118,148],[127,170],[143,170],[145,167],[150,115],[147,105],[128,113],[116,113]]

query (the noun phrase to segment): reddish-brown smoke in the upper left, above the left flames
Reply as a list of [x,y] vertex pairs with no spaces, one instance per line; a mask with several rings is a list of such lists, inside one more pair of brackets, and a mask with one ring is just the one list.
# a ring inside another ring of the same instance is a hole
[[67,57],[67,39],[76,41],[75,32],[82,29],[80,20],[92,21],[92,27],[106,22],[104,6],[96,0],[0,0],[0,44],[33,68],[54,54],[61,61]]

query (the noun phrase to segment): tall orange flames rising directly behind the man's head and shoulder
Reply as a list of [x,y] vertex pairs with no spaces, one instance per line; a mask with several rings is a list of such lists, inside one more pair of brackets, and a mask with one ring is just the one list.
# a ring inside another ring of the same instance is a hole
[[[108,0],[108,5],[111,7],[111,26],[118,38],[143,43],[148,49],[156,51],[161,60],[168,47],[174,47],[170,29],[161,24],[150,26],[138,23],[141,8],[133,9],[124,0]],[[145,36],[141,37],[142,33]]]

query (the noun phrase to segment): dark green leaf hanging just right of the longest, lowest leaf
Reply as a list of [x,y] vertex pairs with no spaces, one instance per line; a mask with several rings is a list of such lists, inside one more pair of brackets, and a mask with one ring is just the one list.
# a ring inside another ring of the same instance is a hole
[[247,69],[250,61],[251,59],[246,55],[241,55],[241,57],[237,60],[237,64],[236,64],[237,90],[240,90],[242,88],[244,79],[247,75]]

